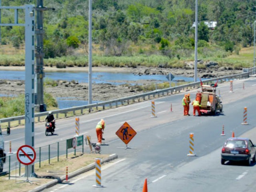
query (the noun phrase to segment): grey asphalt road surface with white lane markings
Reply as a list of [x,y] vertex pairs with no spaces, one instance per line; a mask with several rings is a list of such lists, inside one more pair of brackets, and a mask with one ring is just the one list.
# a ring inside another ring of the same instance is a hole
[[[255,166],[221,165],[220,152],[232,132],[236,136],[245,134],[256,144],[255,86],[255,78],[237,80],[233,83],[234,93],[229,93],[229,83],[219,84],[224,109],[216,116],[183,116],[183,94],[156,99],[156,118],[151,117],[149,101],[80,116],[80,133],[91,135],[94,141],[96,123],[104,118],[104,138],[109,146],[102,146],[102,153],[116,153],[118,159],[102,166],[104,188],[92,187],[95,173],[88,172],[72,178],[70,184],[58,184],[45,191],[142,191],[145,178],[149,191],[254,191]],[[189,92],[193,100],[196,90]],[[171,103],[173,112],[170,112]],[[248,108],[249,125],[241,125],[244,107]],[[44,136],[44,124],[36,124],[35,147],[70,138],[75,132],[74,122],[74,118],[59,120],[58,135],[48,137]],[[124,122],[137,132],[128,144],[137,149],[118,148],[125,147],[115,135]],[[220,136],[222,125],[226,136]],[[187,156],[191,132],[195,157]],[[24,144],[24,129],[12,130],[10,136],[4,137],[6,142],[12,140],[15,150]]]

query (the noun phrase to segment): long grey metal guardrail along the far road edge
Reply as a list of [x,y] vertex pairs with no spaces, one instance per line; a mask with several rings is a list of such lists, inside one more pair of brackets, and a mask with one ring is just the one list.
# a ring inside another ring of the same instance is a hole
[[[222,81],[229,81],[229,80],[234,80],[234,79],[243,79],[243,78],[248,78],[250,75],[253,75],[256,73],[256,68],[244,68],[243,69],[243,73],[240,74],[234,74],[234,75],[229,75],[229,76],[223,76],[223,77],[219,77],[219,78],[212,78],[212,79],[208,79],[208,80],[203,80],[202,82],[204,84],[211,84],[212,82],[218,80],[218,82],[222,82]],[[67,115],[68,112],[73,112],[74,115],[76,115],[76,111],[77,110],[81,110],[81,114],[83,114],[83,110],[88,109],[88,111],[90,112],[92,108],[96,108],[96,110],[98,110],[98,107],[102,107],[102,109],[104,110],[106,106],[109,106],[110,108],[112,107],[112,105],[116,105],[116,107],[118,105],[124,105],[124,103],[129,104],[130,100],[132,100],[133,102],[135,102],[135,100],[137,99],[138,102],[140,102],[140,99],[142,98],[143,100],[146,100],[146,97],[148,97],[148,99],[150,98],[155,98],[155,96],[157,95],[158,97],[160,97],[160,94],[162,94],[162,96],[165,95],[169,95],[169,94],[173,94],[173,92],[180,92],[181,90],[184,90],[185,88],[188,89],[188,87],[193,87],[195,88],[196,86],[200,86],[200,82],[193,82],[193,83],[189,83],[189,84],[184,84],[184,85],[180,85],[180,86],[175,86],[175,87],[171,87],[171,88],[166,88],[166,89],[162,89],[162,90],[155,90],[152,92],[146,92],[146,93],[142,93],[142,94],[138,94],[138,95],[134,95],[134,96],[129,96],[129,97],[124,97],[124,98],[119,98],[119,99],[114,99],[114,100],[109,100],[109,101],[105,101],[105,102],[100,102],[100,103],[95,103],[95,104],[89,104],[89,105],[84,105],[84,106],[77,106],[77,107],[72,107],[72,108],[65,108],[65,109],[59,109],[59,110],[53,110],[52,113],[56,114],[56,118],[58,118],[59,114],[65,114],[65,117]],[[34,115],[35,118],[38,118],[38,122],[40,122],[40,118],[41,117],[45,117],[48,114],[48,112],[40,112],[40,113],[36,113]],[[21,120],[24,120],[25,116],[16,116],[16,117],[9,117],[9,118],[2,118],[0,119],[0,125],[1,123],[8,123],[8,127],[10,126],[10,122],[12,121],[18,121],[19,125],[21,124]]]

